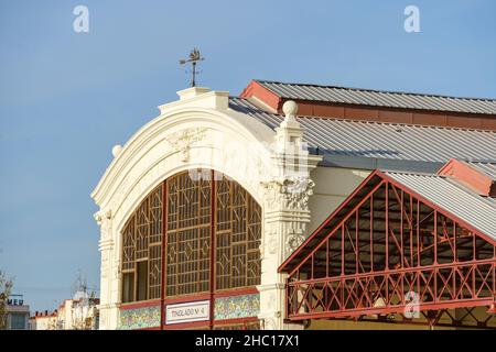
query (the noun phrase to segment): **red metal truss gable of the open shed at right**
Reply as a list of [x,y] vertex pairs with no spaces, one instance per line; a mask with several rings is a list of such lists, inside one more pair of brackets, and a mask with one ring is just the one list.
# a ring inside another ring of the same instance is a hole
[[495,302],[494,239],[380,172],[305,243],[280,268],[293,321]]

